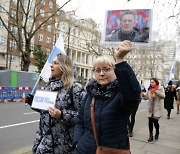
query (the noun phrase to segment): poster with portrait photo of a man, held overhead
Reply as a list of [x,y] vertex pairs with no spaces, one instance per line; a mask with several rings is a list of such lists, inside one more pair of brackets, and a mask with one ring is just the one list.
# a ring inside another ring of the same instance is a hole
[[146,45],[151,43],[152,9],[108,10],[105,13],[101,43],[119,45],[131,42]]

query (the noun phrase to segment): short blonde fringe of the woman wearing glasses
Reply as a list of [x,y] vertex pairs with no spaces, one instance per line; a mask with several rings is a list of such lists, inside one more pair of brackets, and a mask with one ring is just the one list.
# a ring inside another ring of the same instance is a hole
[[94,70],[98,64],[102,64],[102,63],[108,64],[114,68],[115,61],[110,57],[100,56],[94,61],[92,69]]

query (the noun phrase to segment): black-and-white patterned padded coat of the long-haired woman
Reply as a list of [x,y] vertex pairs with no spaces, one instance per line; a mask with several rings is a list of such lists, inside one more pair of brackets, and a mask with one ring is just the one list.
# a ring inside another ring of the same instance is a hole
[[70,92],[59,79],[51,79],[46,90],[58,92],[55,107],[62,111],[62,115],[60,119],[55,119],[48,111],[40,111],[33,154],[73,154],[74,127],[85,90],[82,85],[74,83]]

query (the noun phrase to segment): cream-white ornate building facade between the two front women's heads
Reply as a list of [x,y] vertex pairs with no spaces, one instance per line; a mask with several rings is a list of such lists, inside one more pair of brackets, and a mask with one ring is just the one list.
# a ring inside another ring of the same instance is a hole
[[85,84],[93,77],[92,62],[99,53],[97,24],[92,19],[76,19],[62,11],[56,19],[56,26],[56,38],[63,35],[65,51],[77,67],[77,79]]

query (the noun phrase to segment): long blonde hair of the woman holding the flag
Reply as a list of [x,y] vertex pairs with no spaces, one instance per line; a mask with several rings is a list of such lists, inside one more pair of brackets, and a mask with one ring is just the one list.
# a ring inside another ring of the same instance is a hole
[[67,89],[70,89],[74,82],[74,69],[71,59],[63,54],[57,55],[60,69],[62,70],[61,80]]

